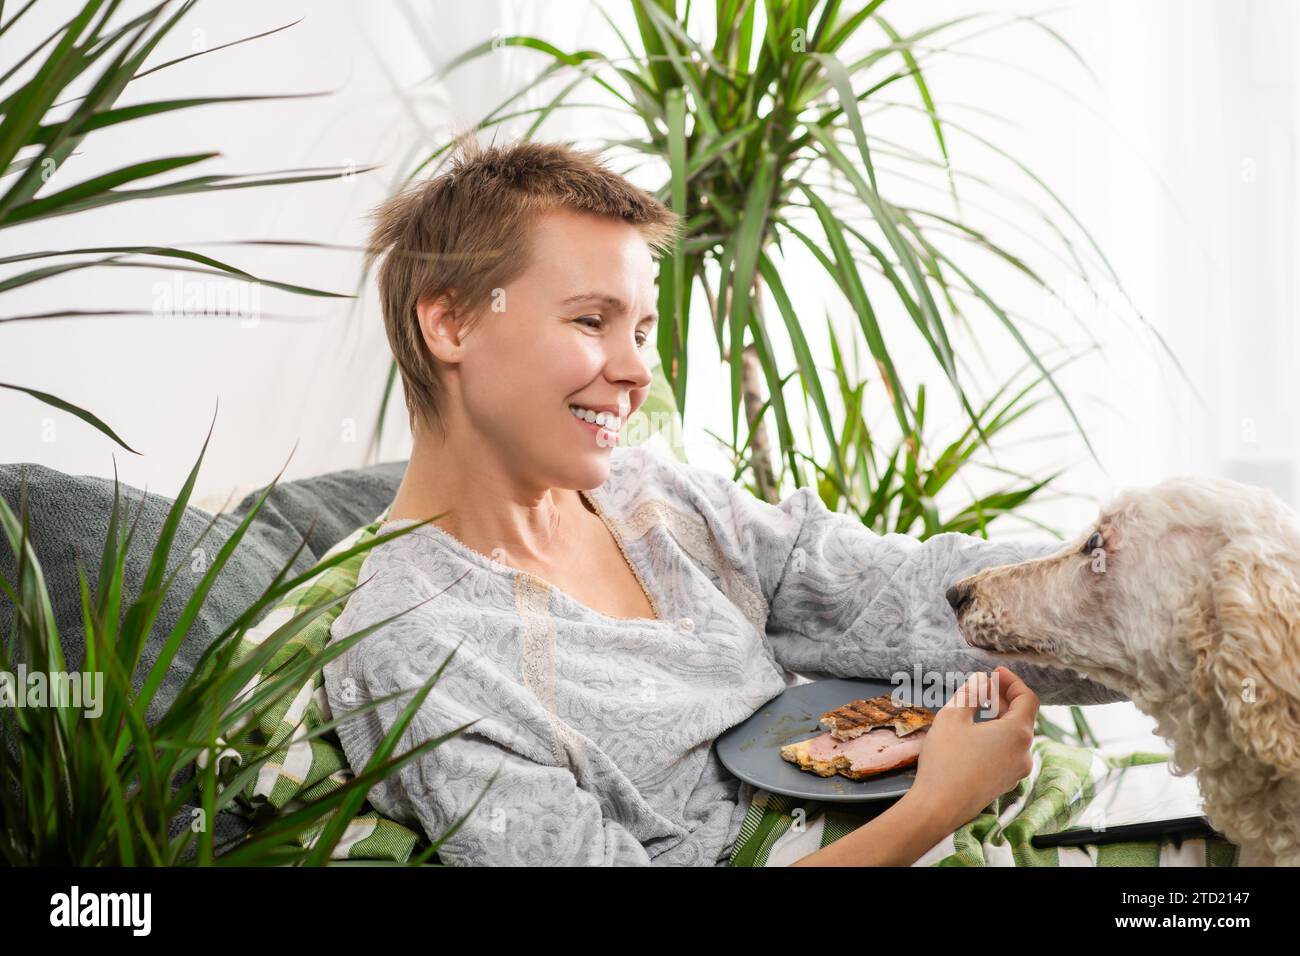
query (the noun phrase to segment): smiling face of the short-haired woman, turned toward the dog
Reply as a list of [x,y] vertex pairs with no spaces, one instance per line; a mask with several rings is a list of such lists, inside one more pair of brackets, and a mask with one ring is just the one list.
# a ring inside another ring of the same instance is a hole
[[[541,485],[601,485],[618,429],[650,390],[655,271],[636,226],[541,213],[526,271],[462,339],[465,424]],[[571,406],[619,418],[589,424]]]

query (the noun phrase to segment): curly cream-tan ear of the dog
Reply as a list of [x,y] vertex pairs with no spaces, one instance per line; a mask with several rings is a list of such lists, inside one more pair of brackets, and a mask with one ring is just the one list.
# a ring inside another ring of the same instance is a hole
[[1219,548],[1188,633],[1193,685],[1217,698],[1232,743],[1300,773],[1300,564],[1258,538]]

